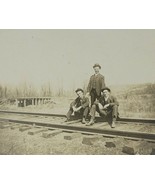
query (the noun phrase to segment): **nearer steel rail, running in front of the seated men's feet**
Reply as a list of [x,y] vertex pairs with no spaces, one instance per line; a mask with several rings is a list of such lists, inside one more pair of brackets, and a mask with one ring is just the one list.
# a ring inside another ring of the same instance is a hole
[[71,132],[80,132],[87,134],[99,134],[103,136],[112,136],[112,137],[124,137],[124,138],[132,138],[132,139],[143,139],[148,141],[155,142],[155,134],[153,133],[145,133],[145,132],[137,132],[137,131],[121,131],[115,129],[102,129],[102,128],[92,128],[92,127],[84,127],[84,126],[73,126],[73,125],[65,125],[65,124],[54,124],[49,122],[37,122],[37,121],[27,121],[27,120],[16,120],[9,118],[2,118],[2,120],[6,120],[13,123],[22,123],[29,125],[36,125],[42,127],[48,127],[50,129],[62,129],[63,131],[71,131]]

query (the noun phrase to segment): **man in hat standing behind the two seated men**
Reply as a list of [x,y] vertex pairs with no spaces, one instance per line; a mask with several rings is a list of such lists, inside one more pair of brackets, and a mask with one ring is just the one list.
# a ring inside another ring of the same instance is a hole
[[105,87],[104,76],[100,74],[101,66],[95,64],[93,66],[95,74],[90,77],[89,84],[87,87],[87,96],[91,96],[91,106],[96,99],[99,99],[101,96],[101,90]]

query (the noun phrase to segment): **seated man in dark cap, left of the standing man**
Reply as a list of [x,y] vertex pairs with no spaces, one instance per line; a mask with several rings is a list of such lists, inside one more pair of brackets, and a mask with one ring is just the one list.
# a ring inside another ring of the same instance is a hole
[[70,120],[71,114],[74,112],[75,116],[82,117],[82,123],[86,123],[86,117],[89,112],[89,99],[84,96],[82,89],[77,89],[77,98],[70,104],[70,109],[66,115],[66,122]]

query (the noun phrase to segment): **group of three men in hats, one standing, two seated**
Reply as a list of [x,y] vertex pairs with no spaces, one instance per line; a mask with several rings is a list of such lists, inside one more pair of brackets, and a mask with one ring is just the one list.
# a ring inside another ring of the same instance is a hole
[[[119,103],[116,97],[111,95],[111,90],[105,87],[104,76],[99,73],[101,66],[95,64],[93,66],[95,74],[90,77],[87,87],[87,94],[84,96],[83,89],[78,88],[75,92],[77,98],[70,104],[70,109],[66,115],[66,121],[70,120],[72,113],[75,116],[82,117],[82,123],[86,126],[94,124],[96,111],[100,116],[107,118],[111,127],[115,128],[115,122],[118,117]],[[91,107],[89,109],[89,98],[91,96]],[[90,112],[91,119],[86,123],[86,117]]]

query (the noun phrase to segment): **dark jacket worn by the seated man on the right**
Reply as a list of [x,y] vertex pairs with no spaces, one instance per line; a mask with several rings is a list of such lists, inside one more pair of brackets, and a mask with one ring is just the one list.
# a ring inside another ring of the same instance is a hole
[[112,106],[114,106],[114,105],[119,106],[119,103],[118,103],[118,101],[117,101],[117,98],[114,97],[114,96],[112,96],[112,95],[109,96],[109,98],[107,99],[107,101],[105,101],[104,97],[101,96],[101,97],[99,98],[99,102],[100,102],[103,106],[106,105],[106,104],[109,104],[109,105],[110,105],[109,107],[112,107]]

